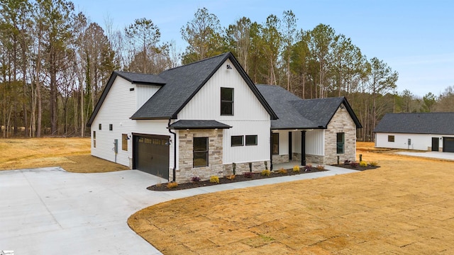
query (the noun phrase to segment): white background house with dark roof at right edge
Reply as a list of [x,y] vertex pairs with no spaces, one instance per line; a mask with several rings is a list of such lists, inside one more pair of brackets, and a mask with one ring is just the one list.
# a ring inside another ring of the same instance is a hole
[[387,113],[374,132],[375,147],[454,152],[454,113]]

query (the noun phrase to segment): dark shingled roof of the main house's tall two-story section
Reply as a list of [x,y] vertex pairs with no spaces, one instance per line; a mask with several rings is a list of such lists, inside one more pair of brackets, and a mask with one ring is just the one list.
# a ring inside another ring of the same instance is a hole
[[277,119],[277,115],[272,111],[265,98],[245,73],[231,52],[227,52],[205,60],[200,60],[181,67],[168,69],[159,75],[156,74],[135,74],[128,72],[112,73],[106,88],[101,94],[98,103],[90,117],[87,126],[91,126],[96,114],[101,108],[102,102],[106,98],[109,90],[117,76],[123,77],[134,84],[155,84],[162,87],[154,94],[142,107],[132,116],[133,120],[156,120],[156,119],[176,119],[179,111],[186,106],[191,98],[206,84],[221,65],[231,60],[233,67],[239,72],[241,77],[248,84],[253,94],[258,98],[265,110],[270,114],[271,119]]

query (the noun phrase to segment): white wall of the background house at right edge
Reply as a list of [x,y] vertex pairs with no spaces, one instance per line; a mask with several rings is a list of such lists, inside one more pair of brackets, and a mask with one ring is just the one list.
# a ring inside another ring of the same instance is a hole
[[[388,142],[388,136],[394,135],[394,142]],[[438,137],[439,147],[443,147],[443,135],[409,134],[409,133],[375,133],[375,147],[394,149],[428,150],[432,147],[432,137]],[[411,145],[408,140],[411,139]]]

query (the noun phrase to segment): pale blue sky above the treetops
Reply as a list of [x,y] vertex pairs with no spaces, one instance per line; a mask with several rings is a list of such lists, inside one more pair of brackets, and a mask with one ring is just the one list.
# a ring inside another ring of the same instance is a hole
[[450,0],[74,0],[92,22],[125,28],[136,18],[148,18],[162,41],[174,40],[181,51],[180,28],[194,18],[197,8],[208,8],[226,27],[246,16],[265,23],[267,16],[292,10],[297,26],[309,30],[323,23],[351,38],[368,59],[377,57],[399,72],[397,91],[436,96],[454,86],[454,1]]

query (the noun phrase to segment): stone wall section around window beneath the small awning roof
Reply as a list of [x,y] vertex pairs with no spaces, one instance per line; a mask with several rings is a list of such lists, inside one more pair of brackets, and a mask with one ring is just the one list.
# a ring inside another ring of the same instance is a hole
[[[208,166],[193,167],[194,137],[208,137]],[[223,130],[182,130],[178,139],[179,169],[175,174],[177,182],[189,182],[194,176],[199,176],[201,180],[208,180],[210,176],[223,176]]]

